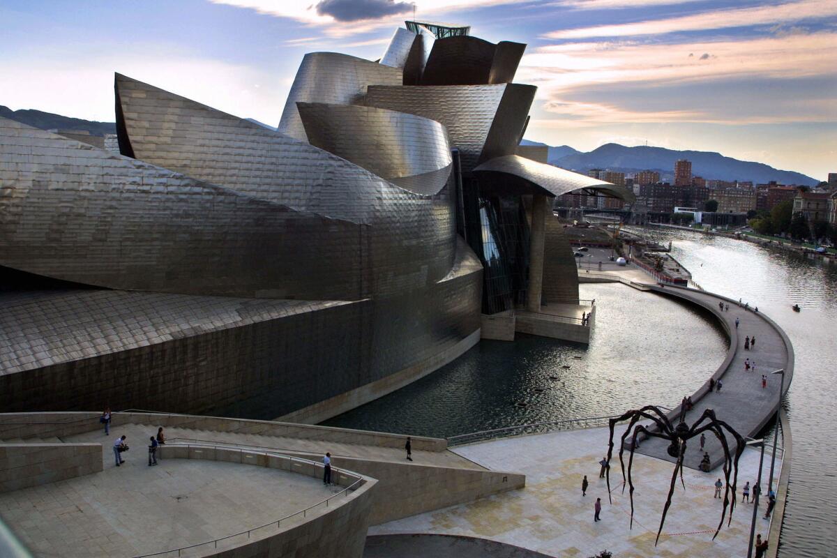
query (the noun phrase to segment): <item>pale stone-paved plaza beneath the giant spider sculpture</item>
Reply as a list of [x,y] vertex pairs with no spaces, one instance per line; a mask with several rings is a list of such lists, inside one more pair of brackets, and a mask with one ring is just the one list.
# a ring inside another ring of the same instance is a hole
[[[607,443],[607,428],[591,428],[455,448],[455,452],[486,468],[526,474],[526,488],[377,525],[369,534],[485,537],[548,555],[580,558],[604,549],[619,558],[746,555],[752,504],[739,502],[732,525],[727,527],[725,521],[713,541],[721,519],[722,500],[713,498],[712,487],[719,473],[688,468],[683,475],[686,490],[677,485],[660,544],[655,547],[673,465],[640,454],[634,458],[634,528],[629,529],[630,505],[627,491],[622,494],[618,461],[611,468],[613,504],[608,504],[604,479],[598,478],[598,461],[607,451]],[[756,479],[758,458],[758,451],[752,448],[742,455],[739,487]],[[769,455],[766,466],[769,468]],[[583,497],[581,482],[585,474],[590,486]],[[602,521],[598,523],[593,522],[596,498],[603,501]],[[763,503],[756,527],[757,533],[765,535],[769,521],[762,516]]]

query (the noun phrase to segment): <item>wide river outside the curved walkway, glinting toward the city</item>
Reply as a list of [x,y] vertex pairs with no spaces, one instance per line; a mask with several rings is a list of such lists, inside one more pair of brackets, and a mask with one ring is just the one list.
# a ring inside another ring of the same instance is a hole
[[[784,402],[793,432],[793,462],[780,556],[837,555],[837,477],[831,473],[835,443],[829,417],[837,399],[837,265],[687,231],[653,236],[673,241],[673,255],[705,289],[749,301],[788,333],[796,357],[793,385]],[[794,303],[802,312],[791,310]]]

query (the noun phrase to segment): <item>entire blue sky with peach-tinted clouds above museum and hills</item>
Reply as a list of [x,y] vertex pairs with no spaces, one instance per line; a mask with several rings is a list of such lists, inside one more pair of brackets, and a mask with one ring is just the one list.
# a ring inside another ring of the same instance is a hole
[[113,121],[113,74],[277,125],[302,56],[378,59],[404,19],[526,43],[526,139],[837,171],[837,1],[0,0],[0,105]]

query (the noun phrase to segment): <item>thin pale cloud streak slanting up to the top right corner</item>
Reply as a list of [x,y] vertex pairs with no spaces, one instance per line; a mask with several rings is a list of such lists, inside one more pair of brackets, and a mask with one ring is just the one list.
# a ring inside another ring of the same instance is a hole
[[682,31],[706,31],[734,27],[751,27],[772,23],[798,22],[837,15],[834,0],[800,0],[754,8],[733,8],[696,13],[677,18],[651,19],[637,23],[618,23],[594,27],[561,29],[544,35],[545,38],[579,39],[593,37],[632,37],[659,35]]

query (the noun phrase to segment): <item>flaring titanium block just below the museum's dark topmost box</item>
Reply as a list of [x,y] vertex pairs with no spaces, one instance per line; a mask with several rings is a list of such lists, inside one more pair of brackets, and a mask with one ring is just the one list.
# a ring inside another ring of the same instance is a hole
[[462,170],[468,172],[480,161],[485,146],[497,153],[516,151],[522,122],[516,125],[514,120],[521,115],[525,120],[526,102],[535,89],[520,84],[370,85],[363,103],[438,120],[447,128],[451,145],[460,149]]

